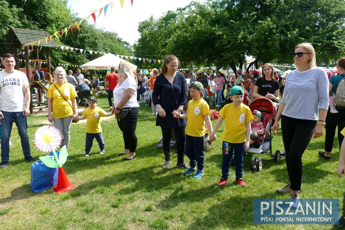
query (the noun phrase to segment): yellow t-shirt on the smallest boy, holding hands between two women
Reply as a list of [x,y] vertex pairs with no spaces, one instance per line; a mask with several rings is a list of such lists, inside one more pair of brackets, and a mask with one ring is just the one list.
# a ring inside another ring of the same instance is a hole
[[99,108],[98,106],[96,106],[95,109],[90,109],[90,107],[86,108],[83,113],[83,117],[87,118],[86,132],[102,132],[100,118],[105,117],[106,114],[107,112],[104,111],[102,108]]

